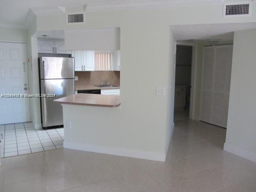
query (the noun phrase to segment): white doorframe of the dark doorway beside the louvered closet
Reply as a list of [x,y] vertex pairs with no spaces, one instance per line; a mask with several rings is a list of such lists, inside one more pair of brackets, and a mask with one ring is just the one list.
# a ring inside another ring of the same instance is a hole
[[[177,45],[186,45],[186,46],[192,46],[192,60],[191,60],[191,79],[190,79],[190,104],[189,104],[189,119],[195,119],[195,102],[196,102],[196,64],[198,62],[198,59],[196,57],[198,52],[198,45],[195,43],[189,43],[189,42],[182,42],[177,41]],[[175,75],[176,75],[176,68],[175,68]]]

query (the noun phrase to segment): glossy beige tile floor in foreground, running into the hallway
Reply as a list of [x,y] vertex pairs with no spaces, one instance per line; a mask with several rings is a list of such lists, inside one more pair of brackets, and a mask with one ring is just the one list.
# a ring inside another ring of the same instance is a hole
[[176,122],[166,162],[65,148],[3,158],[0,192],[255,192],[256,163],[222,150],[225,136]]

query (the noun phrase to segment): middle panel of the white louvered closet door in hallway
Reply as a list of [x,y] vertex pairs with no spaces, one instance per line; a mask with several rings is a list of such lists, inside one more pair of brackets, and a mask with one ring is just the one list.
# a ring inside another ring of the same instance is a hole
[[211,123],[224,126],[228,45],[215,46]]

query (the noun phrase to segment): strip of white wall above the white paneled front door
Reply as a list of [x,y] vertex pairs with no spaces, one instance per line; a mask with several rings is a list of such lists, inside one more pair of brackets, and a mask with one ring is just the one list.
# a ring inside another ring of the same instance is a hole
[[28,30],[0,27],[0,41],[28,42]]

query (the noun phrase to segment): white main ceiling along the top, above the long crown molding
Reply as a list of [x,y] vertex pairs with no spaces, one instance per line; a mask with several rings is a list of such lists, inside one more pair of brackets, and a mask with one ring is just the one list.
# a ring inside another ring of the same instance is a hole
[[[75,7],[90,5],[120,5],[130,3],[138,4],[203,4],[221,2],[221,0],[0,0],[0,26],[24,26],[30,9],[43,9],[54,7]],[[127,4],[126,4],[127,5]]]

